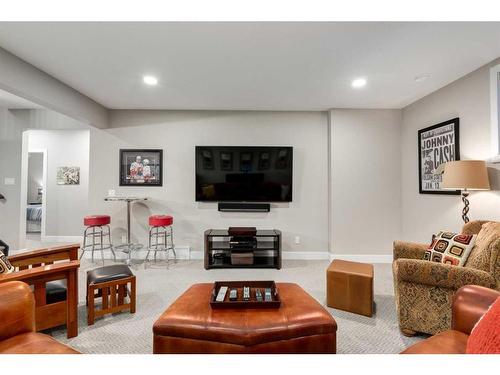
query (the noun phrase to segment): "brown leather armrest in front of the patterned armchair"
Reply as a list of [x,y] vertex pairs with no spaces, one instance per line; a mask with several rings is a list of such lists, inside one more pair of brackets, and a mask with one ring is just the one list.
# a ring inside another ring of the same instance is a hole
[[467,285],[455,293],[452,303],[451,328],[470,335],[472,328],[500,297],[500,292]]

